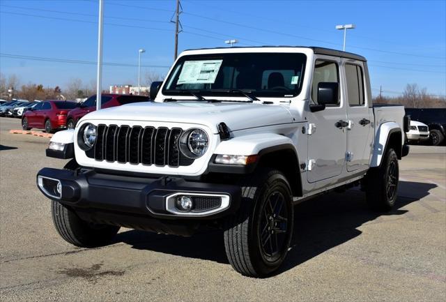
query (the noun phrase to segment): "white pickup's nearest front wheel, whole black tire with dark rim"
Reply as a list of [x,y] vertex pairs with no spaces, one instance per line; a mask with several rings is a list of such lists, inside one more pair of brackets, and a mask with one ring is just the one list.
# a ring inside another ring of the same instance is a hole
[[261,278],[281,266],[293,235],[292,202],[282,172],[266,169],[245,179],[240,209],[227,218],[224,228],[224,247],[233,269]]

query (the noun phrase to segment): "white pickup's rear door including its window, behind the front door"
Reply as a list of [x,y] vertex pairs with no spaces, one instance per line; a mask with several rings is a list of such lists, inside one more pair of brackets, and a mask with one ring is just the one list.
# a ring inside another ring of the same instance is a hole
[[348,60],[344,64],[347,97],[347,171],[360,172],[369,168],[373,142],[373,108],[367,96],[364,66],[361,61]]

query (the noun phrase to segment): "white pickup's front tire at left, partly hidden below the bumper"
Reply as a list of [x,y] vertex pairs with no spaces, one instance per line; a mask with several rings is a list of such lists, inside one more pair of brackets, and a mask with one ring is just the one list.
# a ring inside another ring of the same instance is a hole
[[52,200],[52,218],[59,235],[68,243],[82,248],[105,246],[119,230],[119,227],[114,225],[86,222],[80,219],[75,211],[56,200]]

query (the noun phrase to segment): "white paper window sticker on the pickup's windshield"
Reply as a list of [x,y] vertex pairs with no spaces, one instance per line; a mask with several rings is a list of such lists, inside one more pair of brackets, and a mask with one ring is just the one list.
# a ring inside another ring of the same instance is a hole
[[214,84],[222,61],[185,61],[176,84]]

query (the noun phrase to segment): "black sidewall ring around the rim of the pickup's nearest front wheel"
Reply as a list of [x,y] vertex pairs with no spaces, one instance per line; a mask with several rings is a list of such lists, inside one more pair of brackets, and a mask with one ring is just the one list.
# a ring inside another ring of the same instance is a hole
[[[259,237],[259,226],[261,220],[261,210],[263,209],[263,204],[268,201],[268,197],[273,192],[279,191],[284,195],[285,205],[288,207],[288,226],[287,226],[287,234],[284,243],[284,248],[282,250],[282,255],[275,262],[267,262],[266,259],[262,255],[261,251],[261,240]],[[259,194],[254,199],[254,212],[252,214],[252,220],[249,227],[249,249],[250,254],[255,263],[258,264],[256,268],[258,270],[257,273],[259,275],[268,275],[275,271],[284,261],[286,254],[288,252],[289,246],[291,244],[291,237],[293,235],[293,227],[294,227],[294,213],[293,213],[293,195],[291,194],[291,190],[289,188],[289,183],[286,181],[285,177],[282,174],[272,174],[265,184],[262,186]]]

